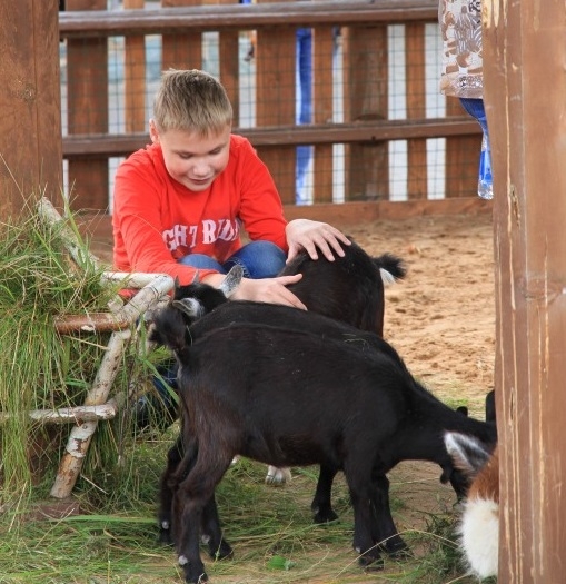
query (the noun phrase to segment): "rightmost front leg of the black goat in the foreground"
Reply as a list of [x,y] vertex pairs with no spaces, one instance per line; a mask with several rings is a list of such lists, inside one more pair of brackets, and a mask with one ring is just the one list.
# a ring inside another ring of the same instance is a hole
[[389,479],[385,474],[374,475],[371,488],[373,536],[381,550],[393,556],[406,554],[407,544],[397,532],[389,504]]

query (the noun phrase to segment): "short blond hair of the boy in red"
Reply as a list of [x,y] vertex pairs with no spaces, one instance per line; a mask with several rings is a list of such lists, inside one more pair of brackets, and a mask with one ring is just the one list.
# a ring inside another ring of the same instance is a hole
[[198,69],[169,69],[153,101],[153,120],[162,132],[186,130],[208,136],[231,126],[232,106],[211,75]]

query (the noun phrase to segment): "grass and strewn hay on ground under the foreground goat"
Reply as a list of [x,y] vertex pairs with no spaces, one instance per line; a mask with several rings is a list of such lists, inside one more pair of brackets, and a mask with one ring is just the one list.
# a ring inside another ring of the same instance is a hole
[[[110,496],[101,499],[98,508],[91,507],[92,499],[87,497],[88,513],[62,521],[38,522],[27,519],[24,514],[4,514],[0,582],[182,582],[173,550],[157,544],[156,523],[158,477],[175,433],[173,427],[159,441],[131,445],[139,456],[129,469],[129,478],[138,487],[136,497]],[[290,485],[269,487],[264,484],[265,465],[240,459],[228,471],[217,493],[225,535],[235,557],[212,562],[203,551],[211,582],[473,582],[461,575],[454,543],[453,493],[436,477],[427,484],[414,484],[406,473],[410,471],[393,473],[391,507],[414,555],[403,561],[386,557],[384,571],[364,573],[351,548],[352,515],[341,475],[334,492],[339,519],[320,526],[312,523],[309,511],[316,468],[295,468]],[[425,496],[420,495],[421,487],[427,492]],[[419,494],[417,501],[415,493]],[[76,496],[81,501],[80,488]]]

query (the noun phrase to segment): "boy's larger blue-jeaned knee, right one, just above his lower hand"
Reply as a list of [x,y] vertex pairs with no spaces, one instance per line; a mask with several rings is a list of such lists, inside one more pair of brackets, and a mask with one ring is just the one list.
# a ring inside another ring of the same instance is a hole
[[259,280],[272,278],[285,267],[285,251],[271,241],[250,241],[242,246],[224,264],[224,273],[235,265],[244,268],[244,277]]

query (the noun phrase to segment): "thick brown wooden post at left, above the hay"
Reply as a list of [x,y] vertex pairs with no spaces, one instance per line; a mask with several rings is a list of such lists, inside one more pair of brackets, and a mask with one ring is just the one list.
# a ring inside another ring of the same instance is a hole
[[0,4],[0,217],[43,189],[61,201],[58,19],[57,0]]

